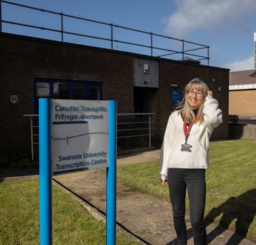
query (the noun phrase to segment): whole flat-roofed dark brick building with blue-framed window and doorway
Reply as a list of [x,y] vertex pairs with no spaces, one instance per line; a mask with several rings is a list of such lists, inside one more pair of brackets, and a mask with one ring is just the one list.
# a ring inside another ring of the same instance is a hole
[[[38,97],[117,100],[117,112],[154,112],[161,143],[176,92],[201,77],[223,110],[212,138],[228,138],[229,70],[121,51],[0,33],[1,155],[30,153]],[[70,91],[72,90],[72,94]],[[71,94],[71,95],[70,95]]]

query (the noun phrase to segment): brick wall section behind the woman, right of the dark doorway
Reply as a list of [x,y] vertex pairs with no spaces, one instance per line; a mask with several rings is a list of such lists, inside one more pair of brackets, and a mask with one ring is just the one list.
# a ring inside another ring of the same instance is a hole
[[[171,92],[181,90],[194,77],[200,77],[209,89],[213,91],[213,97],[218,99],[220,109],[223,111],[224,123],[213,131],[212,138],[228,137],[228,71],[214,69],[213,67],[191,65],[186,63],[172,63],[168,60],[161,61],[159,65],[159,116],[161,124],[159,125],[160,134],[163,135],[170,112],[175,108],[171,104]],[[178,84],[178,87],[171,87],[171,84]],[[219,91],[220,89],[220,91]],[[166,106],[164,106],[166,105]]]

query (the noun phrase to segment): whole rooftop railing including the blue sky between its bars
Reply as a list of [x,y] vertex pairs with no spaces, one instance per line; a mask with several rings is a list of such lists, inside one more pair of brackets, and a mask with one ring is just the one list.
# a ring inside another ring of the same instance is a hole
[[210,60],[208,45],[3,0],[0,32],[207,65]]

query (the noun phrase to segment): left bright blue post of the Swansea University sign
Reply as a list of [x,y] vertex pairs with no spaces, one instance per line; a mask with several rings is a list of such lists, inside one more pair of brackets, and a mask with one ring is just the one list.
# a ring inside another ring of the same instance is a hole
[[40,244],[53,244],[50,99],[39,99]]

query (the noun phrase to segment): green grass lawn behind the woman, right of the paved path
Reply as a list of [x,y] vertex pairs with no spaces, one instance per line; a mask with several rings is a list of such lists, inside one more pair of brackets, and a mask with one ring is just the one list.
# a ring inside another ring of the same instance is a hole
[[[256,141],[210,143],[205,214],[208,221],[256,242],[255,149]],[[119,165],[117,178],[134,190],[149,192],[169,201],[168,187],[159,181],[158,161]]]

